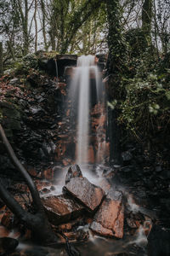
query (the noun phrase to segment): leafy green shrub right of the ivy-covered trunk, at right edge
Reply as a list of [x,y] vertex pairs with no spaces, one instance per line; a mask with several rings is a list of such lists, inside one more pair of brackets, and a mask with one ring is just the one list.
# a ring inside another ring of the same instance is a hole
[[145,78],[137,74],[133,79],[122,81],[126,98],[118,105],[122,110],[119,121],[136,136],[150,136],[150,133],[166,130],[170,120],[170,81],[167,82],[167,75],[153,71],[145,73]]

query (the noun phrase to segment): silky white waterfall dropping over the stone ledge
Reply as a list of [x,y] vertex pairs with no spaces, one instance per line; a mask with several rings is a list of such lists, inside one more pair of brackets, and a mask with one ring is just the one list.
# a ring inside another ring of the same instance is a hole
[[[81,165],[88,163],[88,150],[90,144],[90,134],[92,133],[91,110],[99,108],[99,122],[103,120],[104,113],[104,86],[101,81],[99,69],[95,63],[94,55],[82,55],[77,59],[77,67],[74,69],[73,78],[70,86],[70,102],[72,109],[71,123],[76,123],[76,162]],[[99,159],[98,150],[103,147],[103,138],[101,139],[100,123],[96,128],[97,153],[96,159]],[[105,149],[104,149],[105,150]]]

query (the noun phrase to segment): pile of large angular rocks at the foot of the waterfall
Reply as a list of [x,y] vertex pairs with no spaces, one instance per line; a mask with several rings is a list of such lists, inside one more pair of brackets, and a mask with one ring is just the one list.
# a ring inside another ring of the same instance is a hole
[[100,236],[122,238],[124,206],[122,192],[107,194],[82,177],[79,166],[71,166],[65,177],[64,195],[42,198],[50,222],[54,225],[88,216],[90,229]]

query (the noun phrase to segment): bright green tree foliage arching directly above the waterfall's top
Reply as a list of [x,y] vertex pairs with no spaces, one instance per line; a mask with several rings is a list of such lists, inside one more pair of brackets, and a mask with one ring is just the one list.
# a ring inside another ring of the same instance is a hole
[[[50,13],[48,35],[52,49],[59,51],[61,54],[74,52],[75,50],[80,52],[80,45],[84,44],[84,40],[91,47],[91,39],[95,38],[95,33],[97,35],[99,30],[101,31],[105,22],[103,15],[99,16],[98,12],[99,9],[100,14],[105,12],[105,4],[102,2],[101,0],[53,0],[51,7],[48,9]],[[102,5],[102,8],[100,8],[100,5]],[[94,41],[95,43],[96,41]]]

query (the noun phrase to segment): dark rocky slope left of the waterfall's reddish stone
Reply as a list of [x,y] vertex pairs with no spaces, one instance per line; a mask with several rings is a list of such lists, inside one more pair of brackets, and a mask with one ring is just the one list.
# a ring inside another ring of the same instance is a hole
[[[57,144],[64,129],[65,83],[57,83],[49,74],[48,60],[37,59],[34,68],[26,63],[3,76],[0,84],[0,119],[6,135],[28,170],[34,166],[36,172],[42,172],[54,160],[61,160]],[[3,143],[0,165],[2,174],[15,176]]]

